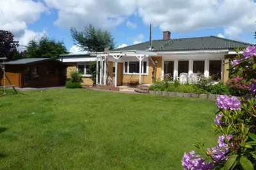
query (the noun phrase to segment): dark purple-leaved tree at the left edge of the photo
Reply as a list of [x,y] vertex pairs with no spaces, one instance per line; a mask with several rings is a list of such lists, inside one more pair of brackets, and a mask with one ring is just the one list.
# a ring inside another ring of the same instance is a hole
[[11,55],[17,52],[19,41],[14,41],[13,38],[12,32],[0,30],[0,57],[10,59]]

